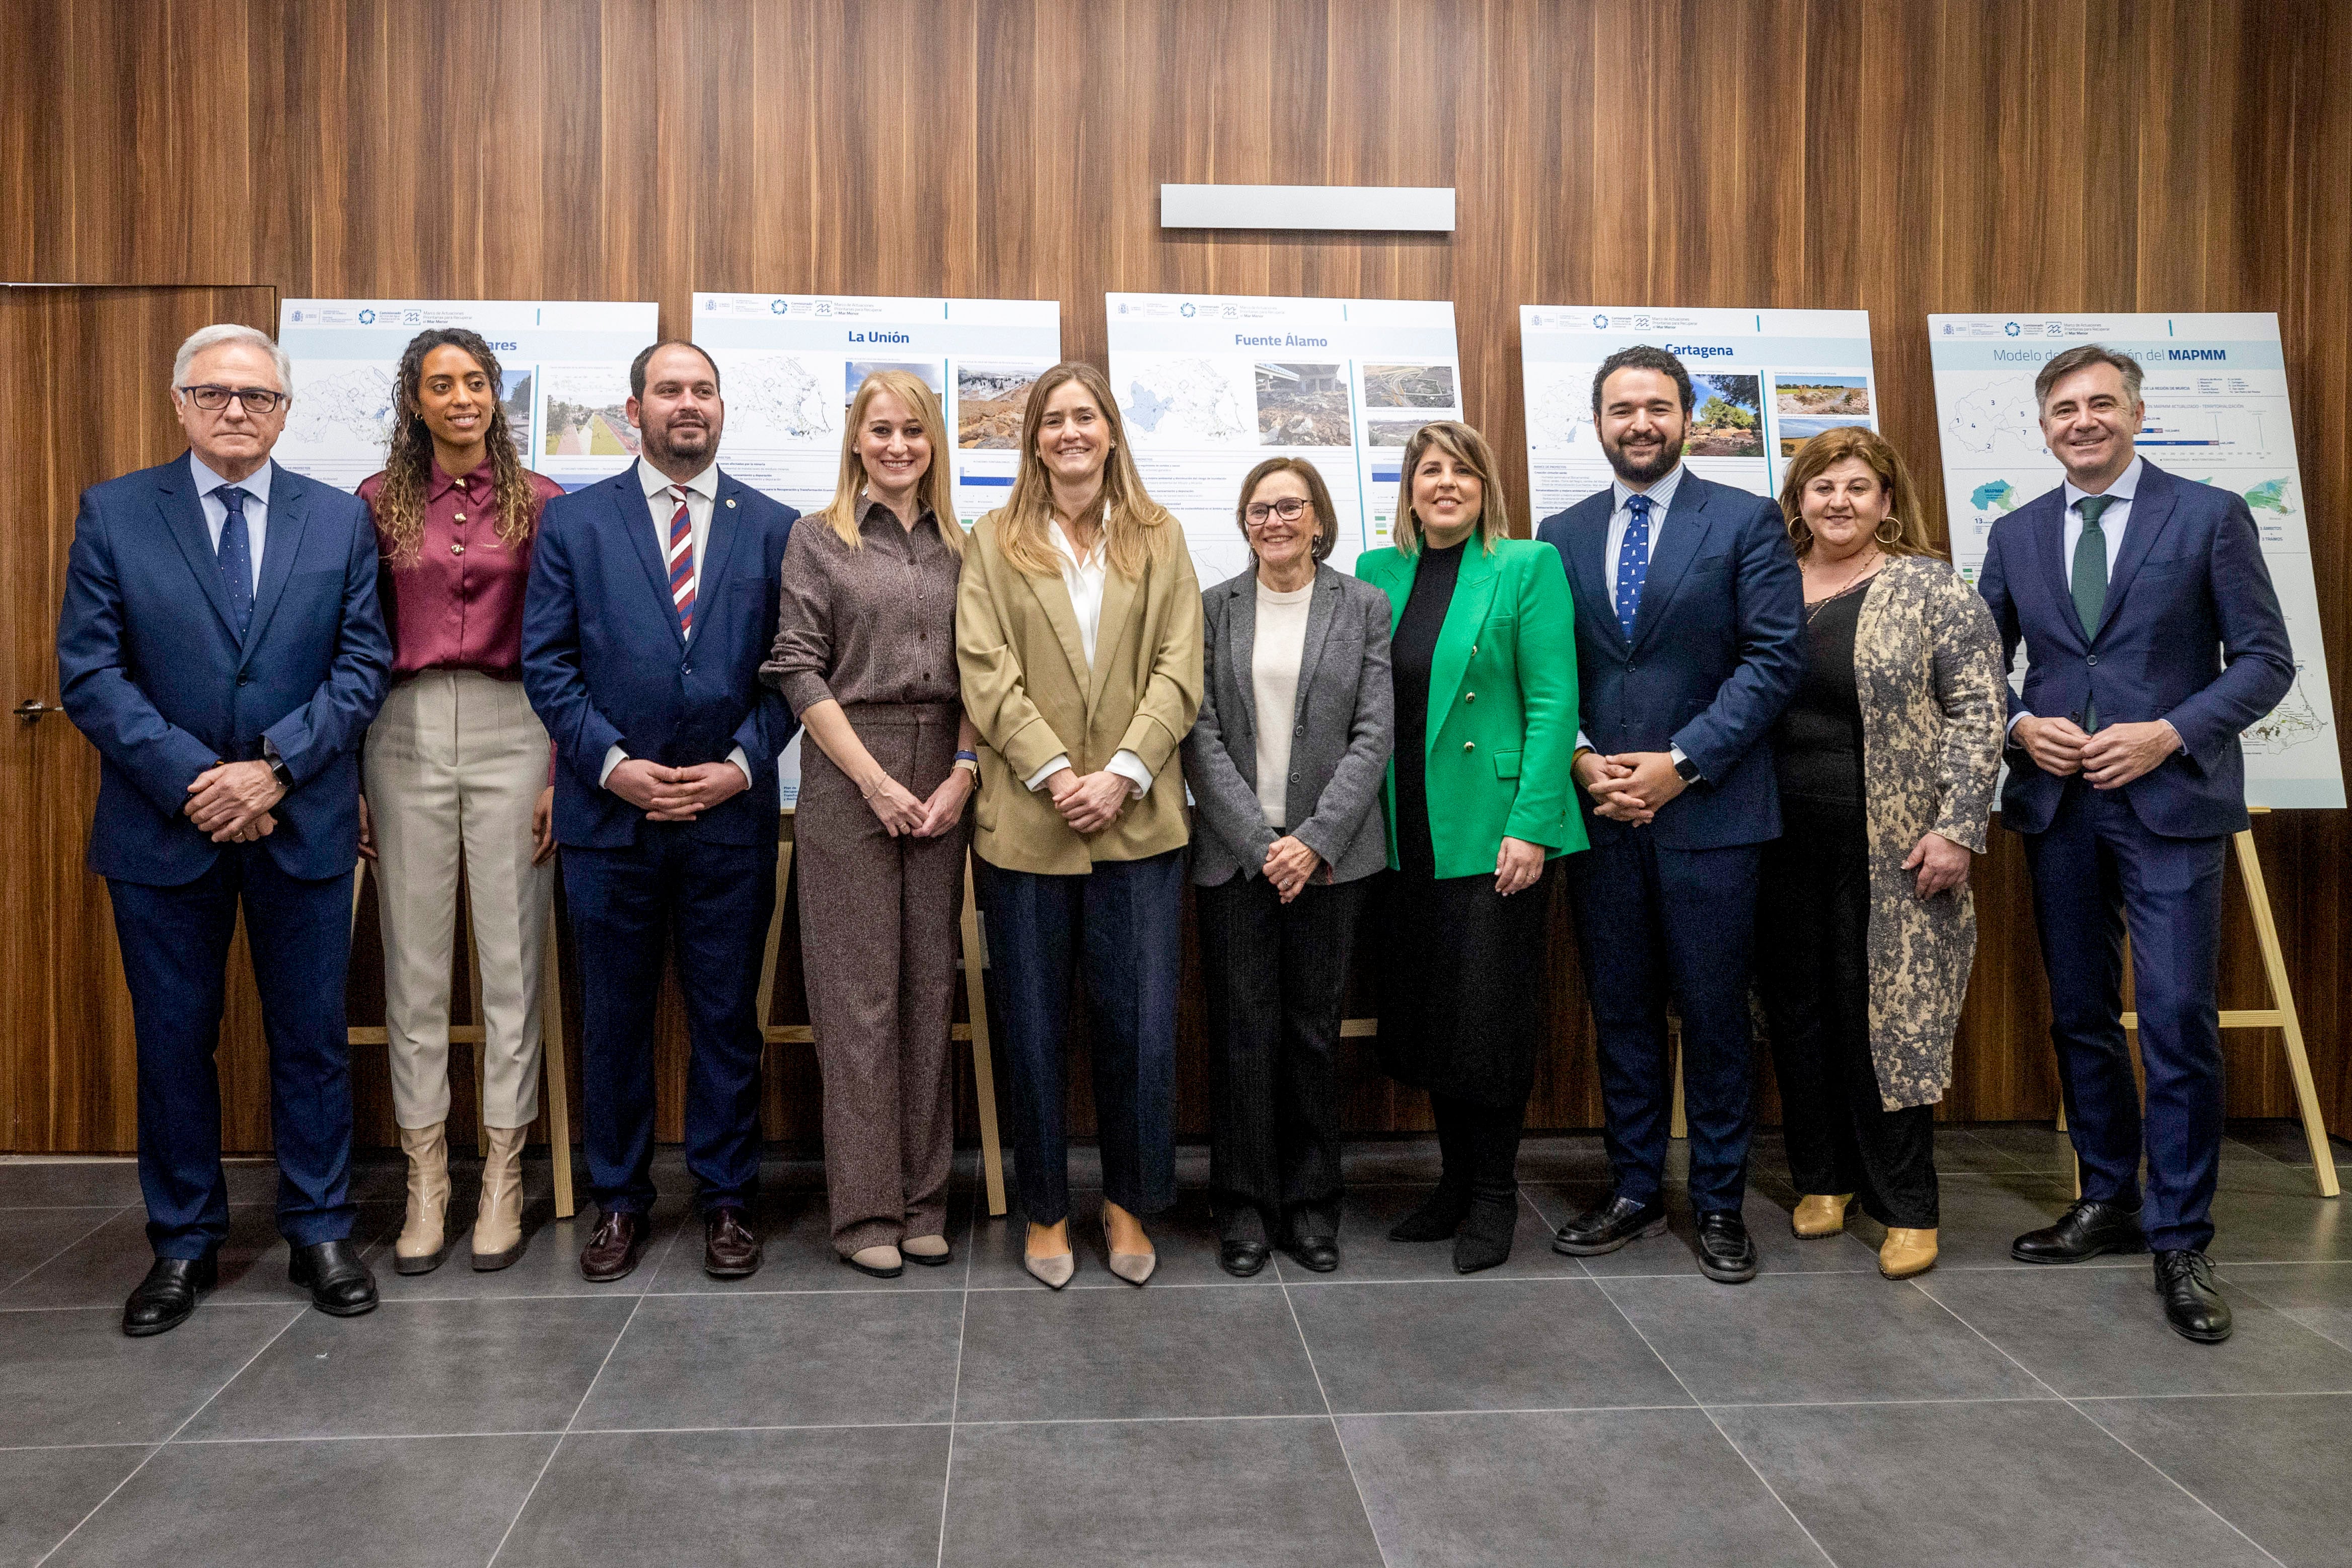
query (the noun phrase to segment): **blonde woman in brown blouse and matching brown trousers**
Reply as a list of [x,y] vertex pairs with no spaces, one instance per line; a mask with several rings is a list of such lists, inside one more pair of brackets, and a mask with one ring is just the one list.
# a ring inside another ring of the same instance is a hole
[[826,1081],[826,1194],[842,1260],[894,1279],[948,1262],[948,1013],[976,731],[955,668],[955,522],[938,395],[858,386],[833,503],[783,550],[760,679],[800,715],[800,940]]

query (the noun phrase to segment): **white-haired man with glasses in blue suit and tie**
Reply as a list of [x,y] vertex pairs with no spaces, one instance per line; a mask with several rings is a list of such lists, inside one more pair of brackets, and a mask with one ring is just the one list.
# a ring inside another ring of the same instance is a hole
[[292,369],[252,327],[181,343],[188,454],[82,491],[56,621],[66,715],[99,748],[89,870],[106,877],[139,1039],[139,1187],[155,1265],[122,1333],[176,1328],[216,1279],[221,1004],[245,929],[270,1044],[278,1229],[320,1312],[376,1281],[350,1246],[343,971],[360,736],[393,644],[355,496],[270,461]]

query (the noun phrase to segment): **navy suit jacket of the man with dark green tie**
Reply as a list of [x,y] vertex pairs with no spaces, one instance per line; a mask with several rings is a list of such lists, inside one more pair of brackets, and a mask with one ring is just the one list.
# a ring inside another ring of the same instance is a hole
[[[2082,724],[2093,693],[2100,724],[2171,719],[2187,755],[2124,785],[2133,813],[2169,839],[2246,827],[2237,736],[2296,684],[2296,656],[2241,496],[2145,463],[2096,637],[2082,635],[2074,614],[2065,487],[1992,522],[1976,588],[2002,630],[2002,675],[2025,642],[2025,696],[2009,691],[2011,719],[2032,712]],[[2046,830],[2065,780],[2016,745],[2006,762],[2002,820],[2018,832]]]

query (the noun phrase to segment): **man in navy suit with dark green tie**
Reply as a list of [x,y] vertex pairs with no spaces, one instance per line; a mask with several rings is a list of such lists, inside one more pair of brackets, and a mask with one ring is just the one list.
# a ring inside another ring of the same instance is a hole
[[[2220,1175],[2220,875],[2246,827],[2239,731],[2279,705],[2296,661],[2253,512],[2133,451],[2131,355],[2084,343],[2034,376],[2065,484],[1992,524],[1978,588],[2006,668],[2002,820],[2025,835],[2082,1201],[2018,1237],[2023,1262],[2157,1253],[2166,1321],[2230,1338],[2213,1288]],[[2147,1112],[2124,1046],[2131,931]],[[2140,1152],[2147,1192],[2140,1194]]]

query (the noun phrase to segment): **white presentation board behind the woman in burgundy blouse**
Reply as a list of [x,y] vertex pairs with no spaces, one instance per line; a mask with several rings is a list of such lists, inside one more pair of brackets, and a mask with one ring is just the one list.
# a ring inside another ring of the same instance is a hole
[[652,301],[289,299],[278,346],[294,360],[294,404],[278,461],[360,489],[393,440],[400,353],[426,327],[482,334],[499,355],[499,402],[527,468],[564,489],[637,461],[628,362],[659,336]]

